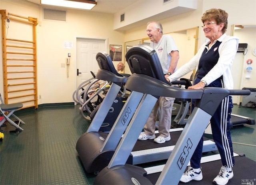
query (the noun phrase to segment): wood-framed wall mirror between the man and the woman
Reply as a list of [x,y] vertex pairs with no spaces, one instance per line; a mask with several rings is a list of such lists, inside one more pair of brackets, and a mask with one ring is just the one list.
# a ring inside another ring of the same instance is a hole
[[[177,69],[186,64],[197,52],[198,44],[198,27],[189,28],[167,33],[172,36],[179,50],[180,59],[177,64]],[[143,38],[142,44],[150,45],[150,39]],[[190,79],[193,72],[186,74],[182,78]]]

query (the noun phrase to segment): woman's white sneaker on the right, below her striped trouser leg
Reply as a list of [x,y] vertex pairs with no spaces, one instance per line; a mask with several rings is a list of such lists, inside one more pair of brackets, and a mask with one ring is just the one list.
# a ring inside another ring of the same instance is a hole
[[220,168],[220,173],[213,179],[213,183],[217,185],[226,185],[229,179],[234,176],[232,170],[228,170],[226,166]]

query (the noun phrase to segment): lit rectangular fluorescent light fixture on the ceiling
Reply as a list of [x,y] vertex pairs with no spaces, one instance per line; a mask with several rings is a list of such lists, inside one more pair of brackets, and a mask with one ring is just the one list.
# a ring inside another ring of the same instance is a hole
[[97,2],[94,0],[41,0],[41,4],[91,10]]

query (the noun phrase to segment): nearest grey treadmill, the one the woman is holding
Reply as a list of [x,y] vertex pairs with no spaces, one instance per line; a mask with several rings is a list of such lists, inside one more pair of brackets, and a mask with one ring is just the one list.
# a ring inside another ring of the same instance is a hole
[[198,99],[198,106],[194,108],[188,118],[188,122],[160,176],[154,177],[156,184],[178,184],[210,118],[222,99],[228,95],[249,95],[250,91],[226,90],[224,88],[181,90],[171,87],[161,76],[162,70],[156,52],[145,45],[130,48],[126,58],[128,58],[127,61],[133,74],[128,78],[125,86],[134,92],[144,93],[144,96],[110,163],[100,171],[94,184],[148,185],[153,183],[147,178],[145,169],[127,164],[126,160],[137,141],[140,130],[160,96]]

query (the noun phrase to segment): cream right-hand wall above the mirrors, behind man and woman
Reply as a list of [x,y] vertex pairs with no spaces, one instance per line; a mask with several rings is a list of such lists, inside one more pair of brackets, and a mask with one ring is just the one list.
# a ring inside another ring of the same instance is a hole
[[[157,20],[162,23],[164,33],[166,32],[174,32],[178,30],[189,29],[198,26],[199,27],[199,36],[198,36],[198,48],[204,44],[206,41],[204,37],[204,32],[201,28],[202,22],[201,17],[202,14],[210,9],[210,8],[220,8],[228,12],[228,29],[226,34],[231,35],[232,33],[232,24],[236,25],[246,25],[253,24],[256,25],[256,1],[255,0],[198,0],[197,9],[192,12],[187,12],[184,14],[180,14],[178,16],[174,16],[171,18],[166,18],[163,20]],[[256,47],[255,44],[255,30],[252,31],[252,34],[245,34],[244,36],[239,36],[240,43],[248,43],[248,58],[256,61],[256,58],[252,56],[252,48]],[[235,36],[237,32],[235,32]],[[132,30],[126,31],[125,34],[125,42],[130,40],[137,40],[141,38],[146,38],[146,25],[140,26],[138,28],[134,28]],[[246,38],[244,38],[246,37]],[[184,46],[187,50],[190,50],[190,47]],[[250,53],[250,55],[249,55]],[[183,57],[182,54],[180,57]],[[252,68],[254,67],[256,62],[252,64]],[[245,72],[244,69],[243,73]],[[252,87],[255,88],[256,84],[254,82],[256,70],[252,70],[250,79],[243,79],[243,87]],[[243,74],[244,75],[244,74]],[[236,83],[236,82],[234,82]]]

